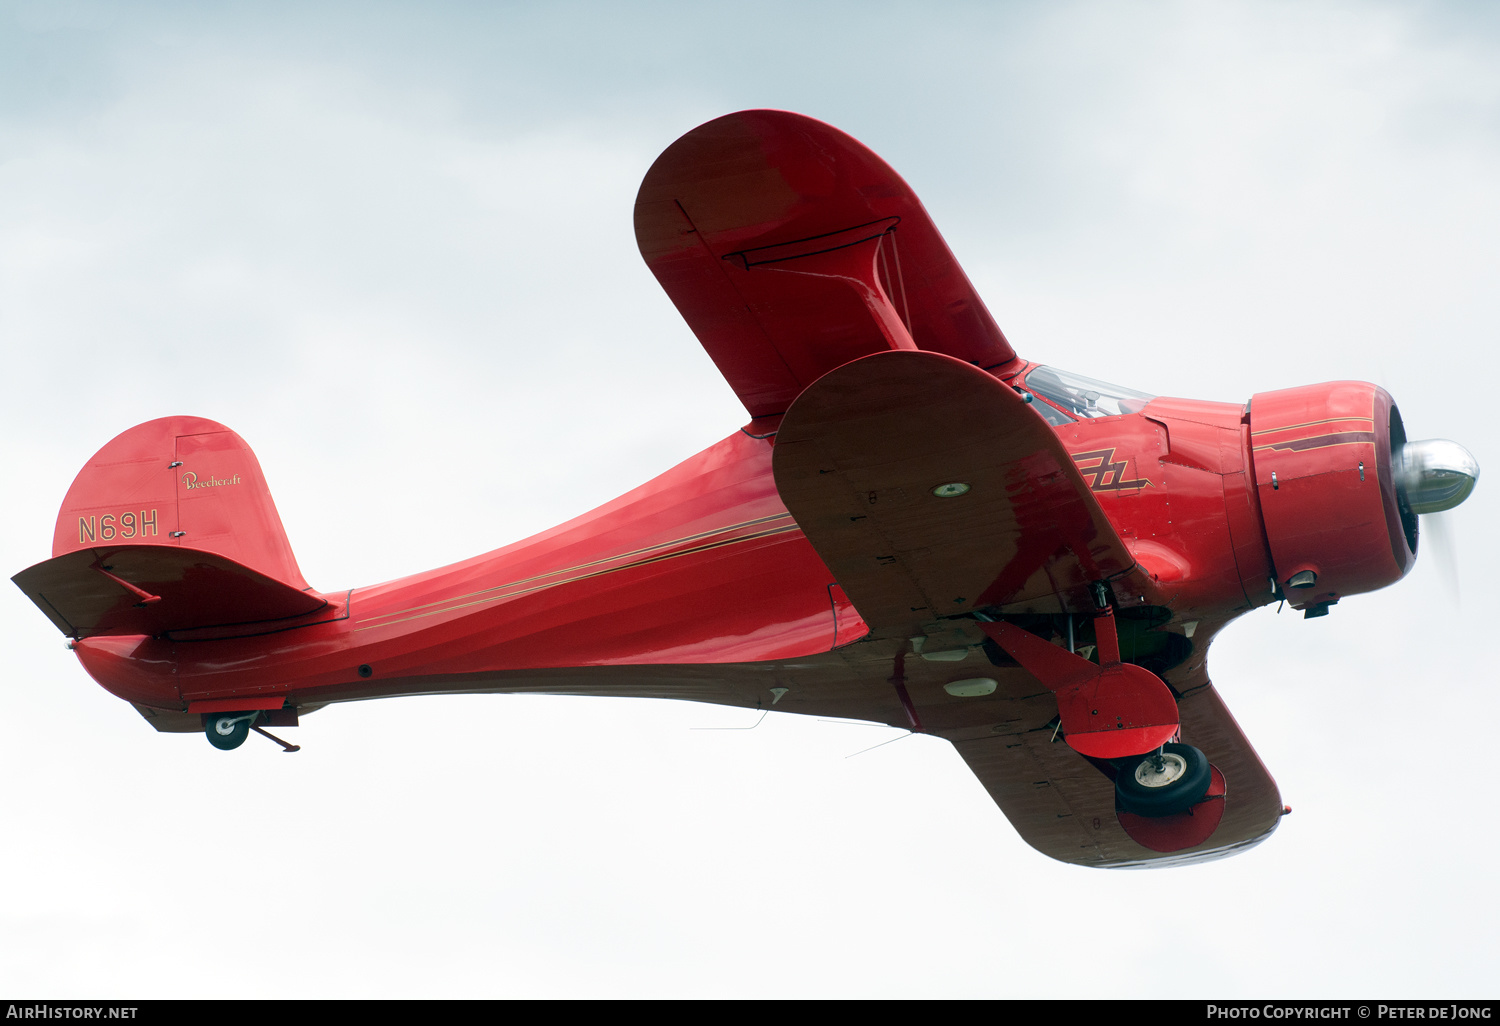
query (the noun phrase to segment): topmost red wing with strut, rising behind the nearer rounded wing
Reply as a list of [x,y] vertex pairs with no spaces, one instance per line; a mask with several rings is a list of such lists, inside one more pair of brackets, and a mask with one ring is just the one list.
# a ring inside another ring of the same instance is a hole
[[752,417],[884,350],[1016,358],[910,188],[810,117],[741,111],[680,138],[640,183],[636,242]]

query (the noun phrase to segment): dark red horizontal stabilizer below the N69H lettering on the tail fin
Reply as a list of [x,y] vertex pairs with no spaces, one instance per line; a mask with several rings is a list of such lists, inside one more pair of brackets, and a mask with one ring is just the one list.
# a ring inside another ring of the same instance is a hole
[[12,580],[69,638],[290,620],[327,604],[228,556],[176,544],[78,549]]

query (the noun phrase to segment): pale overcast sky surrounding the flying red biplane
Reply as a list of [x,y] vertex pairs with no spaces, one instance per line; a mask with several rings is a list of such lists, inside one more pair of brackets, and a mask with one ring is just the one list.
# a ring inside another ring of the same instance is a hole
[[[249,441],[327,591],[734,432],[632,204],[747,106],[885,156],[1030,358],[1230,402],[1370,380],[1497,466],[1488,4],[0,0],[0,566],[168,414]],[[1296,812],[1180,870],[1060,866],[946,742],[848,759],[900,732],[789,716],[398,699],[219,753],[10,588],[0,990],[1494,998],[1492,484],[1449,514],[1461,604],[1424,552],[1221,636]]]

